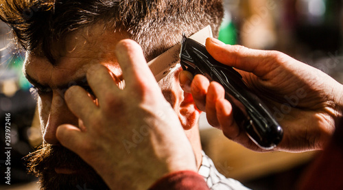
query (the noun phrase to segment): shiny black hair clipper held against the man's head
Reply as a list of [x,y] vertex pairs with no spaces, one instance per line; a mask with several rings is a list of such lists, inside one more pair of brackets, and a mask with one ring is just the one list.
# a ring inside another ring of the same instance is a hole
[[250,92],[241,75],[217,62],[206,51],[206,47],[183,35],[180,50],[182,69],[193,75],[202,74],[210,81],[219,82],[225,89],[225,98],[233,106],[236,123],[259,147],[270,150],[283,138],[283,130],[272,117],[261,99]]

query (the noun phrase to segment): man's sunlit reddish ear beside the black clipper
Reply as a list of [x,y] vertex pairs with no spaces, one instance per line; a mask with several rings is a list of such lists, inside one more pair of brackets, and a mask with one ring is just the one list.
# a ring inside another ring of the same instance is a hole
[[193,101],[191,93],[182,91],[180,82],[178,80],[178,74],[182,69],[178,70],[174,74],[173,91],[176,96],[173,108],[178,115],[178,119],[182,124],[184,130],[190,130],[194,126],[198,126],[198,120],[200,110],[196,107],[196,103]]

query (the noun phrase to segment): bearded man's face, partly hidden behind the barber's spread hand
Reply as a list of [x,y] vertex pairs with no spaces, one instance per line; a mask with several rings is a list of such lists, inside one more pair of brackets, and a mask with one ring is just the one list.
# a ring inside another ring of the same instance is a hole
[[56,130],[62,124],[86,130],[69,110],[64,93],[70,86],[78,85],[92,97],[86,71],[94,64],[102,64],[114,77],[122,78],[113,51],[123,38],[128,37],[104,32],[103,27],[94,27],[88,33],[82,29],[72,32],[66,36],[65,44],[56,42],[53,45],[51,53],[56,64],[51,64],[40,51],[27,52],[23,72],[36,91],[44,143],[26,159],[29,172],[40,178],[42,189],[108,189],[88,165],[90,163],[85,163],[77,154],[60,145]]

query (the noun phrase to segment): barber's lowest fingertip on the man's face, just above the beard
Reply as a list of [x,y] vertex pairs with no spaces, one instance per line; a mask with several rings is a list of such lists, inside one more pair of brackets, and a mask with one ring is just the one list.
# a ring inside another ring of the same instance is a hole
[[80,128],[69,124],[58,126],[56,130],[56,137],[58,141],[69,150],[76,154],[82,154],[83,147],[86,145],[86,133],[81,132]]

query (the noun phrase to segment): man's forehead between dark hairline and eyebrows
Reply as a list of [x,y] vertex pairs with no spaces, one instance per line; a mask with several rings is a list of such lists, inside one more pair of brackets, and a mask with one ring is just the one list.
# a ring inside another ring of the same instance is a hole
[[[65,45],[54,45],[60,49],[56,65],[47,58],[28,52],[24,73],[34,80],[42,82],[62,82],[84,78],[86,70],[93,64],[104,64],[115,75],[121,71],[115,57],[115,45],[126,35],[100,28],[80,29],[65,38]],[[61,51],[62,50],[62,51]]]

